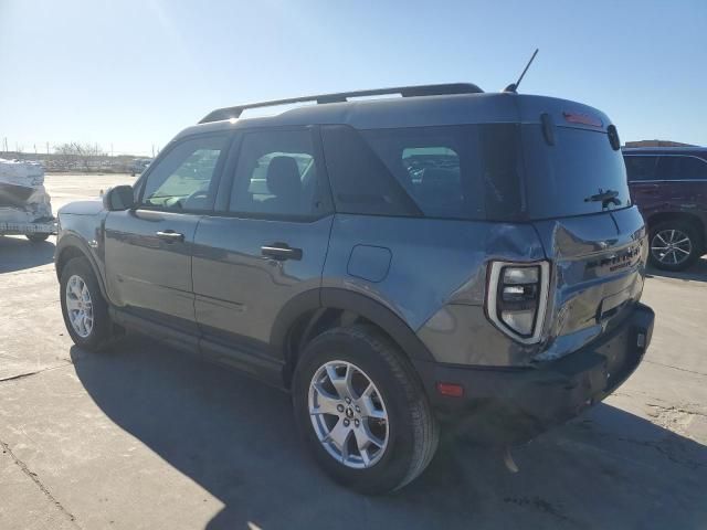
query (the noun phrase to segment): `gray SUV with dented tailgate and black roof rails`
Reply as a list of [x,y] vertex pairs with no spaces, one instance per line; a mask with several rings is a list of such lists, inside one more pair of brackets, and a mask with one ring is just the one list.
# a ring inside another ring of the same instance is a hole
[[288,390],[315,459],[369,494],[422,473],[441,428],[510,445],[576,416],[653,329],[616,129],[562,99],[455,84],[222,108],[59,219],[78,347],[143,331]]

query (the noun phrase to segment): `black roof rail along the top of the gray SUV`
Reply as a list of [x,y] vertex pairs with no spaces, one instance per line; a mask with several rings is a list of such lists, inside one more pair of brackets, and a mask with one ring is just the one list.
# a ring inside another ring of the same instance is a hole
[[209,113],[200,124],[210,121],[220,121],[223,119],[239,118],[243,110],[258,107],[273,107],[276,105],[288,105],[293,103],[316,102],[325,103],[344,103],[349,97],[363,96],[382,96],[387,94],[400,94],[402,97],[414,96],[442,96],[450,94],[481,94],[478,86],[472,83],[447,83],[442,85],[416,85],[416,86],[395,86],[392,88],[374,88],[371,91],[339,92],[336,94],[318,94],[316,96],[289,97],[287,99],[273,99],[272,102],[249,103],[246,105],[236,105],[234,107],[218,108]]

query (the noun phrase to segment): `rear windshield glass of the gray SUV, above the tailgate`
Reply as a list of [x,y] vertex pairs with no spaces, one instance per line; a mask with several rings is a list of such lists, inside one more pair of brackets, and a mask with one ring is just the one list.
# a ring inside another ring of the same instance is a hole
[[631,205],[621,151],[608,135],[556,127],[549,145],[539,125],[523,126],[527,209],[531,219],[598,213]]

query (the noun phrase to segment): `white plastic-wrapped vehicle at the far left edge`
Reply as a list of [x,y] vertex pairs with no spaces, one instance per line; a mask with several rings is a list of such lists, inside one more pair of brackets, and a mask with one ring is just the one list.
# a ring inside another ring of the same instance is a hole
[[[12,203],[17,202],[12,187],[18,186],[29,189],[20,204]],[[0,158],[0,222],[31,223],[50,218],[52,204],[44,189],[44,168],[39,162]]]

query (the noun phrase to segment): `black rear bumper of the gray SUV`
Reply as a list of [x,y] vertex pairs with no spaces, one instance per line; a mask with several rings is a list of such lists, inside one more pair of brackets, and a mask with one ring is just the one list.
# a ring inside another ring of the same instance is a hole
[[[536,368],[468,368],[415,362],[439,417],[482,443],[517,444],[602,401],[636,369],[651,342],[653,310],[637,304],[624,322],[557,361]],[[441,395],[456,383],[462,398]]]

